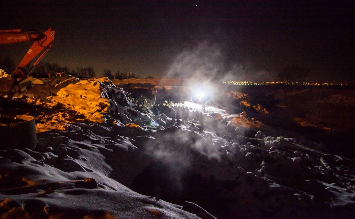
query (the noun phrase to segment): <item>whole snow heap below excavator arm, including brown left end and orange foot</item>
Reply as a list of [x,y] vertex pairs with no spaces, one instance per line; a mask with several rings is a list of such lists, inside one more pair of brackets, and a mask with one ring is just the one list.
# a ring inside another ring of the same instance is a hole
[[82,120],[104,123],[112,117],[124,124],[153,122],[152,115],[135,110],[126,92],[106,77],[78,79],[68,75],[45,79],[14,99],[52,112],[36,116],[37,132],[67,130],[71,123]]

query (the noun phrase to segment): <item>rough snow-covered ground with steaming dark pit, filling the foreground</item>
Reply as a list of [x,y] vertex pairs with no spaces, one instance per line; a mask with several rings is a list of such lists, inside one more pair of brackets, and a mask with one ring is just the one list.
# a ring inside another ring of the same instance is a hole
[[107,78],[48,80],[9,101],[41,112],[35,150],[0,151],[2,218],[355,216],[353,159],[246,113],[183,102],[191,120],[178,124]]

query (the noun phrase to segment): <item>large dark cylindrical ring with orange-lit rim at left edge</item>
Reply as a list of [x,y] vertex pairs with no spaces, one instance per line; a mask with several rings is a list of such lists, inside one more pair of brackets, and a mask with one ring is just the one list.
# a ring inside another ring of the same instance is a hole
[[0,117],[0,149],[37,146],[36,123],[33,116]]

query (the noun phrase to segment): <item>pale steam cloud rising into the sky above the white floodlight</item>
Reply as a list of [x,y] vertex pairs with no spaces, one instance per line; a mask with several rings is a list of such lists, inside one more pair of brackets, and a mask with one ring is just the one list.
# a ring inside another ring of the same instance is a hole
[[185,78],[189,83],[215,80],[262,81],[274,78],[266,70],[256,70],[247,57],[242,62],[233,60],[240,56],[242,54],[228,58],[223,46],[208,41],[200,42],[196,46],[185,48],[175,57],[166,71],[166,77]]

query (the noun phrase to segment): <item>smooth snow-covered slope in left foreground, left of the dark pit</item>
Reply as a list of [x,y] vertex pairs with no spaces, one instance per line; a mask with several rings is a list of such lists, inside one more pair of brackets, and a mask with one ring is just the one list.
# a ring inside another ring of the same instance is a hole
[[137,149],[128,138],[94,124],[72,128],[39,134],[36,151],[0,152],[2,218],[197,218],[181,206],[140,195],[108,178],[113,169],[103,154]]

